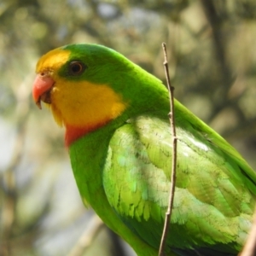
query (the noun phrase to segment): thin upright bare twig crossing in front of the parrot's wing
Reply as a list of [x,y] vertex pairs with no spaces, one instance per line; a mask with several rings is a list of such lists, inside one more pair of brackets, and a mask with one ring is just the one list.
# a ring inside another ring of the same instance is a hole
[[170,188],[170,197],[168,202],[168,208],[166,210],[166,219],[165,219],[165,225],[164,230],[161,237],[160,242],[160,249],[159,249],[159,256],[164,256],[165,253],[165,245],[166,245],[166,238],[169,231],[169,225],[171,221],[172,216],[172,207],[173,207],[173,201],[174,201],[174,192],[175,192],[175,183],[176,183],[176,163],[177,163],[177,137],[176,137],[176,127],[175,127],[175,120],[174,120],[174,87],[171,85],[170,75],[169,75],[169,69],[168,69],[168,61],[167,61],[167,52],[166,52],[166,44],[162,44],[165,61],[164,61],[164,67],[166,72],[166,81],[167,86],[169,90],[169,97],[170,97],[170,109],[171,112],[169,113],[169,119],[170,119],[170,125],[172,130],[172,177],[171,177],[171,188]]

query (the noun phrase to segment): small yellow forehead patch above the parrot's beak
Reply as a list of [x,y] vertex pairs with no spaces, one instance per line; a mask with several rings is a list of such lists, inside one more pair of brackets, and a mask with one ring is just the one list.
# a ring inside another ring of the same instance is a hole
[[58,70],[64,63],[67,62],[70,55],[70,50],[67,49],[53,49],[47,54],[43,55],[38,61],[36,72],[43,70],[55,71]]

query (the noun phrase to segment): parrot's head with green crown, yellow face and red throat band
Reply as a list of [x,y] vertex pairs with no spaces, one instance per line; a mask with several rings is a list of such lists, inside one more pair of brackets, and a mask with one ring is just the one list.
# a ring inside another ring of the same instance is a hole
[[67,146],[128,109],[142,110],[143,98],[145,106],[150,102],[143,84],[159,83],[123,55],[98,44],[53,49],[39,59],[36,73],[33,99],[38,108],[41,102],[49,105],[56,123],[66,127]]

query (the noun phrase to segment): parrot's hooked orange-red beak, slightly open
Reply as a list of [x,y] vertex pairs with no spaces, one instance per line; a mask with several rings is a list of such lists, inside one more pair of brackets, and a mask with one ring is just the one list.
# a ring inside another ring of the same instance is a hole
[[46,103],[51,103],[50,101],[50,90],[55,84],[54,79],[49,77],[49,75],[44,73],[39,73],[34,81],[32,96],[34,102],[38,105],[38,108],[41,107],[41,100]]

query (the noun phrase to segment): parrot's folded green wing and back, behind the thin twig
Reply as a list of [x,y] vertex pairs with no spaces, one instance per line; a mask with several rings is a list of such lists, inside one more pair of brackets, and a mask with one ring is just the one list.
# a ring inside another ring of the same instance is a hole
[[[256,176],[222,137],[194,115],[188,121],[186,114],[190,113],[178,106],[177,185],[169,250],[181,255],[192,249],[235,255],[251,227]],[[155,248],[160,244],[171,166],[168,120],[141,116],[113,134],[103,171],[108,201],[134,234]]]

